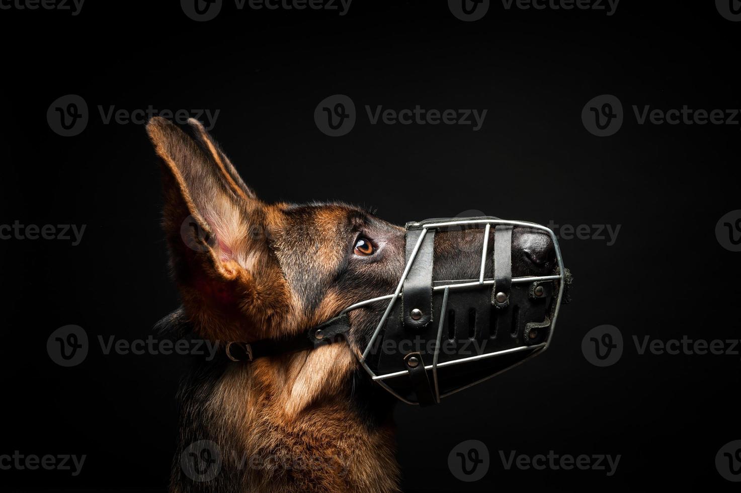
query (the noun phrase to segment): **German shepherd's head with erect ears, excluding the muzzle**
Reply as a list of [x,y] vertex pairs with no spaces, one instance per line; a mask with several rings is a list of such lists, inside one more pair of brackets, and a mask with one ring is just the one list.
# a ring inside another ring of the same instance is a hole
[[[162,118],[147,125],[165,165],[171,266],[200,337],[289,337],[394,292],[405,269],[404,228],[342,203],[262,202],[202,125],[190,120],[190,130]],[[478,278],[482,243],[480,229],[439,231],[433,279]],[[554,271],[548,234],[514,228],[511,248],[513,276]],[[486,268],[491,274],[491,260]],[[354,351],[368,344],[387,304],[350,313]]]

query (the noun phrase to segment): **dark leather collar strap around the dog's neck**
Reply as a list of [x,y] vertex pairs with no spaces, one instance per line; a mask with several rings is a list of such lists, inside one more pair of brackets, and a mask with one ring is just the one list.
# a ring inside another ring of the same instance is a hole
[[240,341],[227,343],[225,354],[232,361],[252,361],[259,357],[318,348],[320,345],[331,343],[348,331],[350,331],[350,318],[344,314],[285,339],[263,339],[254,343]]

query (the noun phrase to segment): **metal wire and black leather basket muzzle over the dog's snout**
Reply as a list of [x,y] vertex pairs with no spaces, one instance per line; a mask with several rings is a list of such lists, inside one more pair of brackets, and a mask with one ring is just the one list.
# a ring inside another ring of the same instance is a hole
[[[433,281],[436,231],[482,228],[478,279]],[[489,247],[494,229],[494,248]],[[514,228],[548,234],[554,274],[512,277]],[[565,285],[570,282],[556,235],[532,222],[495,217],[428,219],[406,225],[406,265],[359,362],[373,381],[405,403],[439,403],[545,351],[551,343]],[[488,255],[493,262],[487,264]],[[492,277],[485,277],[491,265]],[[431,378],[430,378],[431,375]]]

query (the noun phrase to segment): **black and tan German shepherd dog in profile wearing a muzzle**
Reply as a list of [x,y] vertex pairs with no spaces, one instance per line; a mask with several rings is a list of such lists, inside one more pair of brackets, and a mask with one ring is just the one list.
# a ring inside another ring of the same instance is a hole
[[[280,340],[393,293],[405,268],[404,228],[344,203],[262,202],[199,122],[188,130],[159,117],[147,125],[163,164],[163,224],[182,298],[160,330]],[[436,235],[434,279],[479,276],[478,231]],[[549,242],[516,228],[512,274],[553,271]],[[356,360],[387,304],[351,311],[346,342],[251,362],[193,357],[179,391],[170,492],[399,491],[395,399]],[[183,466],[201,440],[218,447],[219,471],[209,480]]]

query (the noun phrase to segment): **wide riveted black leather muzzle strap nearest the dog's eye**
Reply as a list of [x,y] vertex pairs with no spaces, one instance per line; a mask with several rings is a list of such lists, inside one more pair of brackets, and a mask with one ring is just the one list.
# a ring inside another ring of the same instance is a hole
[[[407,231],[406,261],[409,262],[421,230]],[[432,264],[435,248],[435,231],[428,230],[419,245],[409,274],[404,280],[402,296],[402,321],[405,327],[422,328],[433,320],[432,314]],[[413,310],[422,311],[417,320]]]

